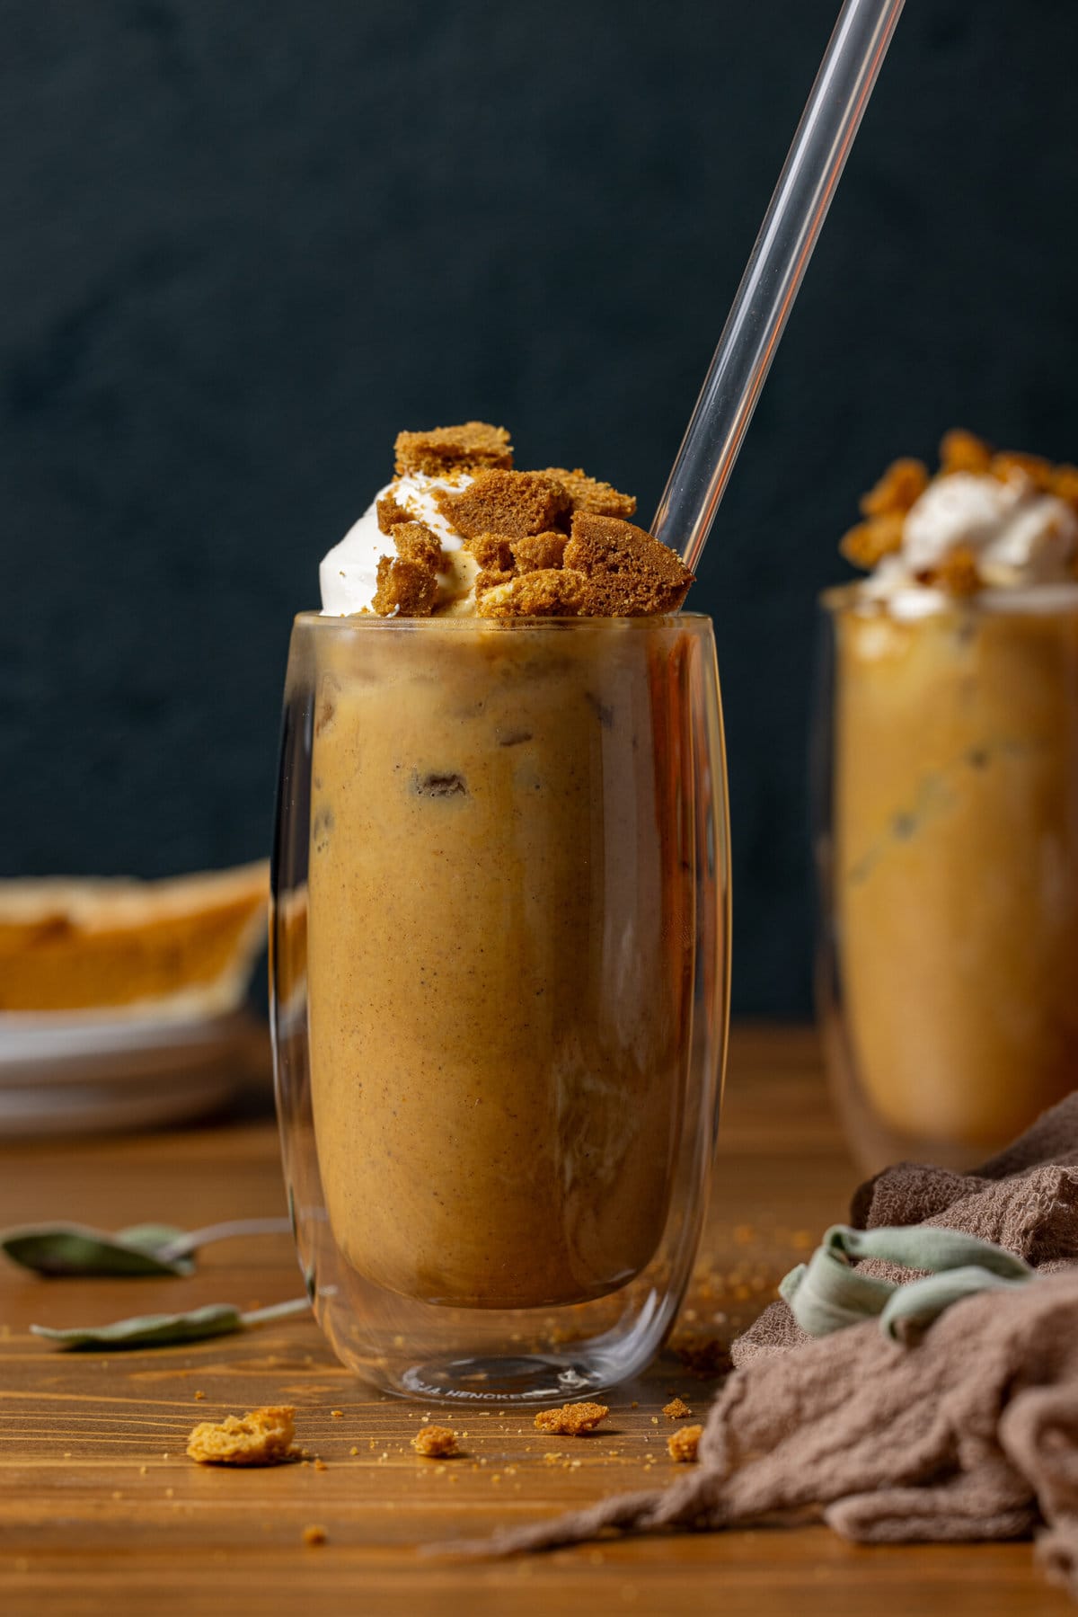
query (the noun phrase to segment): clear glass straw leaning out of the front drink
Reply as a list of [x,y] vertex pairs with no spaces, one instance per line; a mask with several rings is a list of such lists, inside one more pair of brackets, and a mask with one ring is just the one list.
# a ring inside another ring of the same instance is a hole
[[845,0],[651,532],[693,571],[887,55],[903,0]]

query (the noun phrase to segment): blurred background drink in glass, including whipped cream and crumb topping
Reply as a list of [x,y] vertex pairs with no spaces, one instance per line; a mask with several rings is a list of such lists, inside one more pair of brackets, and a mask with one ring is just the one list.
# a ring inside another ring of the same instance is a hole
[[1078,472],[895,462],[827,598],[832,1066],[868,1166],[970,1166],[1078,1080]]

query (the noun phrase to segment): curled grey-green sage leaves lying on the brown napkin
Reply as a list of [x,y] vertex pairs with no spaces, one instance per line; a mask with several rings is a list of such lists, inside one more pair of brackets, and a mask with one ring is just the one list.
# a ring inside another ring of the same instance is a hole
[[[884,1258],[929,1273],[899,1286],[861,1274],[852,1268],[855,1258]],[[798,1263],[782,1279],[779,1294],[810,1336],[876,1318],[884,1336],[900,1340],[910,1331],[924,1331],[963,1297],[1025,1286],[1034,1274],[1013,1252],[960,1231],[832,1224],[808,1263]]]

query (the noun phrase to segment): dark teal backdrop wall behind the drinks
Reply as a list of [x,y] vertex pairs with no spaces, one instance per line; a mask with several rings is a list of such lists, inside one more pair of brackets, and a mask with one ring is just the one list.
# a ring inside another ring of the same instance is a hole
[[[837,0],[6,0],[0,873],[267,849],[291,613],[401,425],[646,521]],[[910,0],[690,597],[735,1004],[808,1006],[813,598],[963,422],[1078,459],[1078,10]]]

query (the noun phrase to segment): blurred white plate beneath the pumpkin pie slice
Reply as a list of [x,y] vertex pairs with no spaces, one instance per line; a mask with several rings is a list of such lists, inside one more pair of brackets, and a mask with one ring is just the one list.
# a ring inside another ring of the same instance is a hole
[[263,1036],[246,1011],[200,1020],[0,1014],[0,1137],[194,1117],[234,1093]]

